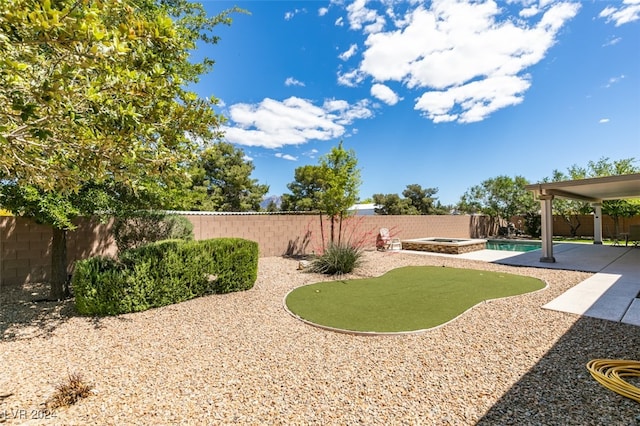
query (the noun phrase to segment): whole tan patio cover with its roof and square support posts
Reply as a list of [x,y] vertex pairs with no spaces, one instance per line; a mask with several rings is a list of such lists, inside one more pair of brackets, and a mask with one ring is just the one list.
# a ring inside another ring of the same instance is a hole
[[526,185],[540,200],[542,208],[541,262],[555,262],[553,257],[552,203],[555,197],[588,201],[594,208],[593,243],[602,244],[602,202],[640,198],[640,173],[600,178],[568,180]]

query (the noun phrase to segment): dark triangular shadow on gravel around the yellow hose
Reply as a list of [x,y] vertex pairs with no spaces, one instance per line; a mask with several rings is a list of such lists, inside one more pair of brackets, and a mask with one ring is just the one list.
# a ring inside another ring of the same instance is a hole
[[640,327],[582,317],[477,424],[640,424],[640,405],[586,369],[595,358],[638,360],[639,348]]

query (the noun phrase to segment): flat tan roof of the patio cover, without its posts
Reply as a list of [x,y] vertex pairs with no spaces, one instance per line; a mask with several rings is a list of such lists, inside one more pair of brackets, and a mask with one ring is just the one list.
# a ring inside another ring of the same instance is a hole
[[542,194],[590,202],[640,198],[640,173],[526,185],[537,197]]

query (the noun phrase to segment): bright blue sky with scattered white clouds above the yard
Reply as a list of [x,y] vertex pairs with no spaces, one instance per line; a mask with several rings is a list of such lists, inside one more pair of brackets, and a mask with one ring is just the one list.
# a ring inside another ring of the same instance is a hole
[[270,186],[340,140],[360,197],[640,159],[640,0],[205,1],[226,140]]

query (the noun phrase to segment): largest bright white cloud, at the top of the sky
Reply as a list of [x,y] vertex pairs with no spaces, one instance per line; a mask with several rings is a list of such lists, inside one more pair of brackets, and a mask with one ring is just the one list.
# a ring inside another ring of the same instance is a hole
[[[351,28],[364,33],[379,16],[366,4],[356,0],[347,7]],[[369,33],[359,68],[339,73],[338,83],[356,86],[367,77],[377,84],[401,82],[422,91],[415,109],[435,122],[484,120],[522,102],[531,86],[527,69],[545,57],[580,9],[565,1],[539,2],[535,13],[531,2],[521,7],[513,19],[494,1],[418,5],[394,20],[400,27]]]

